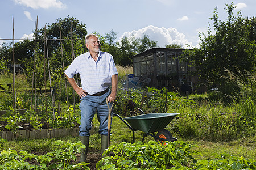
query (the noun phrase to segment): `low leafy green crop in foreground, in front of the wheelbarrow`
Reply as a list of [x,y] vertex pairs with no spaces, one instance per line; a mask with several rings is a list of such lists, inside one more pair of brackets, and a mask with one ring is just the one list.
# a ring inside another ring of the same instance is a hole
[[112,145],[105,151],[108,155],[113,152],[115,156],[107,156],[97,163],[99,169],[168,169],[177,165],[190,166],[195,164],[192,145],[177,141],[174,143],[120,143]]

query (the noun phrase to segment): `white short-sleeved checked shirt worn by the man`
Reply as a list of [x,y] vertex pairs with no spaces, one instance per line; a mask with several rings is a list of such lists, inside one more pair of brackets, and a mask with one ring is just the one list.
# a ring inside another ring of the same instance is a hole
[[77,56],[65,74],[73,78],[77,73],[80,74],[82,89],[89,95],[106,90],[111,86],[112,75],[118,74],[113,56],[106,52],[99,52],[97,62],[89,52]]

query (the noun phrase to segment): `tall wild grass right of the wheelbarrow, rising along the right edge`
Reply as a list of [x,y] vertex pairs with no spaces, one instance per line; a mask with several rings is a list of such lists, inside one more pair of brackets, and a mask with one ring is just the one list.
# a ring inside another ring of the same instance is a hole
[[[238,90],[231,94],[210,93],[197,104],[188,104],[186,99],[177,100],[175,107],[168,111],[179,112],[181,117],[176,120],[172,130],[182,137],[209,141],[232,141],[255,136],[256,74],[247,71],[241,73],[239,70],[237,73],[227,72],[226,80],[237,86],[234,89]],[[224,104],[216,100],[224,99],[223,96],[228,96],[232,102]]]

